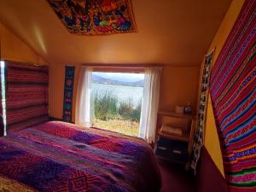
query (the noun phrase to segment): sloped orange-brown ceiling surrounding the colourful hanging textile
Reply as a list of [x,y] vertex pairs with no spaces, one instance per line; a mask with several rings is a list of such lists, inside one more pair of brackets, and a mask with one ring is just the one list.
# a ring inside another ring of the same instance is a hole
[[0,22],[51,64],[199,66],[231,0],[132,0],[137,33],[80,36],[46,0],[2,0]]

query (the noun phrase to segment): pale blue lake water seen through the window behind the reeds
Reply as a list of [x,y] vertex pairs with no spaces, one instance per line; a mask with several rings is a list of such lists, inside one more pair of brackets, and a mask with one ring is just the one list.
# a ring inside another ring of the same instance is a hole
[[119,102],[131,99],[134,106],[143,99],[143,87],[125,86],[119,84],[99,84],[92,83],[91,91],[104,94],[106,91],[110,91],[111,94],[117,96]]

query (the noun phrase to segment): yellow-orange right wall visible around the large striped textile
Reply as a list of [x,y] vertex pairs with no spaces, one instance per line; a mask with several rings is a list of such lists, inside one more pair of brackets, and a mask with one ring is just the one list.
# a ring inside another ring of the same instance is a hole
[[[224,20],[219,26],[218,32],[213,38],[212,44],[208,49],[208,51],[210,51],[214,47],[216,47],[213,63],[217,60],[218,54],[222,49],[226,38],[230,34],[231,28],[234,25],[237,16],[239,15],[239,12],[243,3],[244,3],[244,0],[233,0],[233,2],[230,4],[230,9],[227,11],[224,17]],[[217,133],[214,116],[212,112],[212,102],[211,102],[210,96],[208,98],[209,99],[207,103],[205,146],[209,154],[212,156],[212,160],[215,162],[216,166],[218,166],[219,171],[224,175],[222,155],[221,155],[219,142],[218,142],[218,133]]]

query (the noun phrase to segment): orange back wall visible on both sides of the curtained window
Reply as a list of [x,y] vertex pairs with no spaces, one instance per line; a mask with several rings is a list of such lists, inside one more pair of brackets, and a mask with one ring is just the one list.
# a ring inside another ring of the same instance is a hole
[[[80,67],[81,65],[77,65],[75,69],[73,121]],[[64,74],[65,65],[49,66],[49,114],[58,119],[62,117]],[[173,110],[177,104],[184,105],[186,102],[191,102],[191,107],[195,109],[198,77],[199,67],[165,66],[161,79],[160,108]]]

